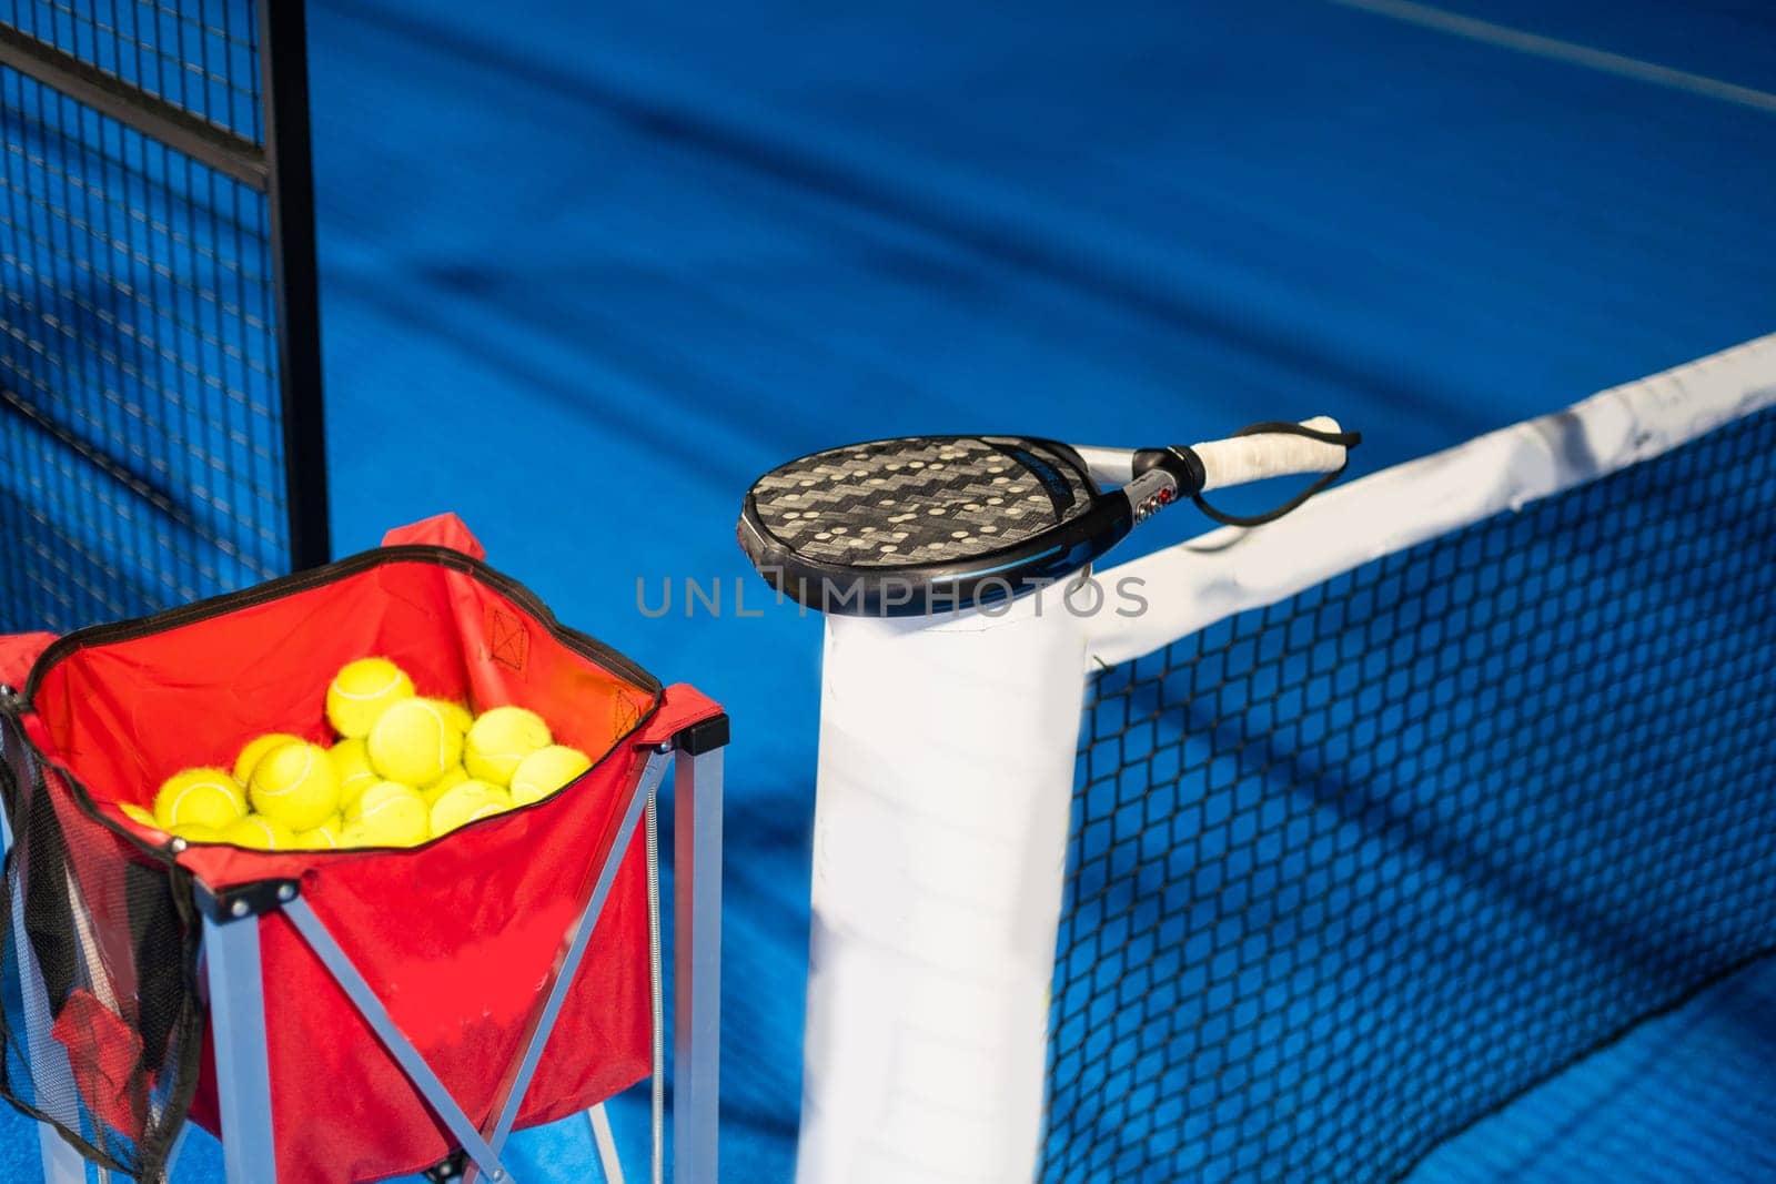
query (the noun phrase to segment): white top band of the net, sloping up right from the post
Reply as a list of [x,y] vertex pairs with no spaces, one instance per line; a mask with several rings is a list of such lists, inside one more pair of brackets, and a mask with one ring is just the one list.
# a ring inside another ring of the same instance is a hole
[[1776,405],[1776,334],[1611,387],[1433,456],[1336,488],[1257,531],[1227,527],[1105,575],[1137,577],[1151,609],[1099,614],[1092,666],[1115,666],[1362,563],[1522,509]]

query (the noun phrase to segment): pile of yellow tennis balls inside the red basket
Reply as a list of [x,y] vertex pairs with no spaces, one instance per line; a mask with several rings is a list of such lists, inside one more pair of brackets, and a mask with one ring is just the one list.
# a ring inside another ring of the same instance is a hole
[[188,843],[259,850],[417,847],[476,818],[538,802],[591,767],[522,706],[480,717],[428,699],[387,659],[348,662],[327,687],[332,747],[270,733],[233,769],[185,769],[133,820]]

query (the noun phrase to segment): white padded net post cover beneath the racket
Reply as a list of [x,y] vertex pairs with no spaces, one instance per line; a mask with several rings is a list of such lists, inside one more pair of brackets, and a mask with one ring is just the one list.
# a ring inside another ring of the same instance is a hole
[[826,620],[801,1184],[1028,1180],[1083,630]]

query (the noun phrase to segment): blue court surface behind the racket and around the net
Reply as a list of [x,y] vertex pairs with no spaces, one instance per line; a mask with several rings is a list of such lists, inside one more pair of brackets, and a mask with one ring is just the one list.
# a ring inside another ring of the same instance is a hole
[[[819,706],[819,621],[733,543],[757,474],[899,433],[1320,412],[1366,472],[1776,327],[1756,0],[309,20],[336,549],[455,509],[563,621],[733,717],[733,1182],[792,1177]],[[1119,554],[1204,527],[1174,509]],[[687,579],[719,616],[686,616]],[[1414,1179],[1772,1180],[1772,1065],[1765,964]],[[4,1122],[0,1175],[32,1179]],[[616,1124],[636,1179],[641,1092]],[[218,1164],[194,1140],[176,1179]],[[597,1179],[590,1134],[526,1134],[515,1170]]]

